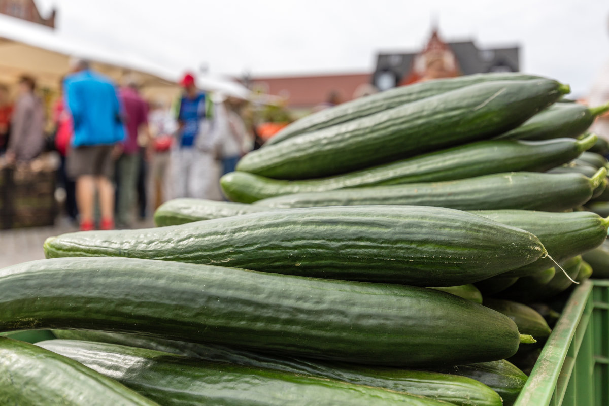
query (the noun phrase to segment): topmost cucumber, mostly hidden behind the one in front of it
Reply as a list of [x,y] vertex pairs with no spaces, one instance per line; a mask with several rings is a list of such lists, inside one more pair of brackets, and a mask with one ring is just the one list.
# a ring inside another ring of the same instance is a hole
[[288,138],[308,133],[332,125],[341,124],[353,119],[370,116],[370,114],[387,110],[388,108],[398,107],[404,103],[415,102],[436,94],[445,93],[454,89],[476,83],[491,82],[497,80],[535,80],[543,79],[539,76],[526,75],[520,73],[491,73],[466,75],[451,79],[430,80],[428,82],[415,83],[410,86],[401,86],[389,89],[382,93],[367,96],[365,99],[351,100],[332,108],[327,108],[317,113],[310,114],[298,121],[293,122],[275,134],[262,147],[277,144]]

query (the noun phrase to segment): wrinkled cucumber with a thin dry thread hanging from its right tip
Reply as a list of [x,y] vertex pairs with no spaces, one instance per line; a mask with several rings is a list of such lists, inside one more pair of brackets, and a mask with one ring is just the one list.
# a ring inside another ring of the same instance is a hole
[[331,279],[455,286],[545,253],[537,237],[426,206],[286,209],[185,225],[63,234],[46,257],[122,256]]

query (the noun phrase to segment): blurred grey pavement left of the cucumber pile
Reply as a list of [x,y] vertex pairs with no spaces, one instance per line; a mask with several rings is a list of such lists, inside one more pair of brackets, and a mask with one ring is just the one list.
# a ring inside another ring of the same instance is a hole
[[[136,223],[138,228],[152,226],[152,220]],[[42,249],[44,240],[72,231],[78,231],[78,229],[63,219],[58,219],[54,227],[0,230],[0,268],[35,259],[44,259]]]

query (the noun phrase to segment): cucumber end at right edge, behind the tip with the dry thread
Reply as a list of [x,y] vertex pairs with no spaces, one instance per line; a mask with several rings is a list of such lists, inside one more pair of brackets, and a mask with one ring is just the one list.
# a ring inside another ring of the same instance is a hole
[[[588,211],[553,213],[524,210],[481,210],[474,213],[535,234],[549,256],[557,262],[599,247],[607,239],[609,228],[608,219]],[[500,276],[526,276],[552,267],[554,267],[554,262],[549,257],[544,257],[525,267],[502,273]]]

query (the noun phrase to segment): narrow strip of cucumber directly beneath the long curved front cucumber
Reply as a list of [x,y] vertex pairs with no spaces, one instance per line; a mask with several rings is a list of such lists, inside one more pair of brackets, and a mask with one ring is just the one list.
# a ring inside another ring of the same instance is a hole
[[61,338],[68,338],[68,340],[99,341],[136,346],[186,355],[208,362],[230,363],[253,369],[273,369],[284,373],[316,376],[356,385],[385,388],[396,392],[426,396],[461,406],[501,406],[498,394],[481,382],[467,377],[457,378],[449,374],[431,371],[282,358],[243,349],[185,343],[133,334],[62,330],[57,331],[57,335]]

